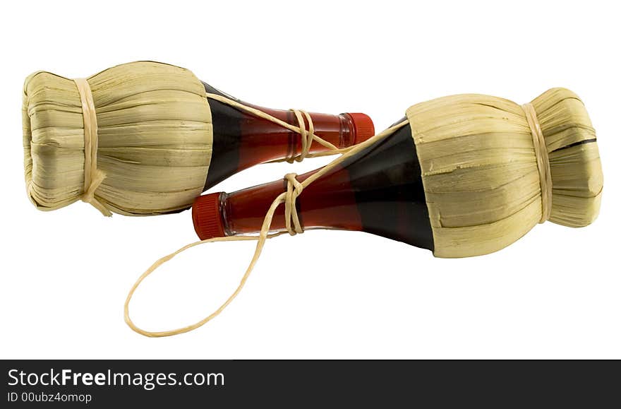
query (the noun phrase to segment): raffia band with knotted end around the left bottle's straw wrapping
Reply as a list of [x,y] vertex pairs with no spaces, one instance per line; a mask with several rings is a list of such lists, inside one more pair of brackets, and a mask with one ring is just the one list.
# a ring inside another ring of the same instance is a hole
[[90,203],[104,216],[111,216],[112,213],[95,196],[95,191],[106,178],[106,174],[97,169],[97,114],[95,113],[95,103],[92,101],[92,92],[86,78],[76,78],[73,80],[80,93],[82,102],[82,116],[84,121],[84,192],[80,199],[85,203]]

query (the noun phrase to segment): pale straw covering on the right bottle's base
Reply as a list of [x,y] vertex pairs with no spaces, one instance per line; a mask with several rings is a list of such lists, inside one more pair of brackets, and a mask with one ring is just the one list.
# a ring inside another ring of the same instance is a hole
[[[531,102],[552,180],[548,220],[589,225],[603,177],[595,131],[582,101],[553,88]],[[435,256],[488,254],[542,217],[531,126],[523,107],[488,95],[454,95],[407,110],[430,215]]]

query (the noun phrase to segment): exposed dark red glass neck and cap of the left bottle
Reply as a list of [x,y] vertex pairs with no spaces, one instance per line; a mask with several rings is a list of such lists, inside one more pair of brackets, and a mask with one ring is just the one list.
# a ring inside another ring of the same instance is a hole
[[[207,93],[230,97],[222,91],[203,83]],[[302,151],[300,134],[275,124],[267,119],[231,107],[223,102],[208,98],[212,114],[213,143],[205,190],[236,172],[248,169],[260,163],[272,160],[294,158]],[[237,100],[238,102],[241,102]],[[270,109],[242,102],[244,105],[260,109],[293,126],[299,126],[294,112],[282,109]],[[315,135],[332,143],[337,148],[347,148],[373,135],[373,129],[357,129],[352,115],[356,114],[320,114],[309,113],[313,121]],[[306,118],[304,126],[309,129]],[[310,153],[328,150],[320,143],[310,145]]]

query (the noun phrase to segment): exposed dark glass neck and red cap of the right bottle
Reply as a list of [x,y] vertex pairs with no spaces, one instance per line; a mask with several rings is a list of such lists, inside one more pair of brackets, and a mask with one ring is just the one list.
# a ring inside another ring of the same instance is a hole
[[[315,172],[297,179],[302,182]],[[286,189],[287,182],[278,180],[231,194],[201,196],[193,206],[195,229],[201,239],[257,233],[272,201]],[[433,250],[421,167],[409,125],[306,186],[296,200],[296,210],[304,230],[364,231]],[[210,227],[203,228],[205,223]],[[277,208],[270,230],[285,230],[284,206]]]

